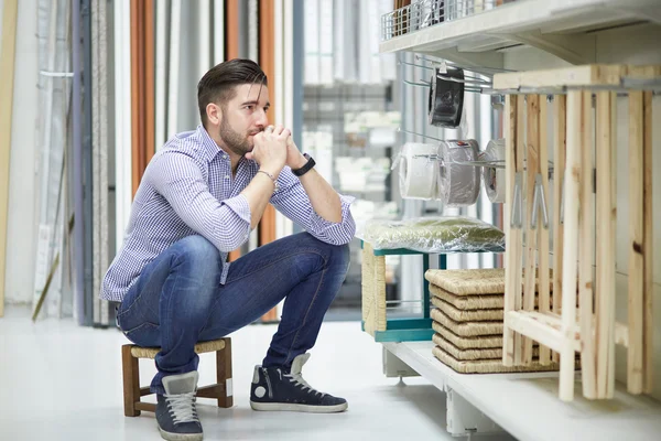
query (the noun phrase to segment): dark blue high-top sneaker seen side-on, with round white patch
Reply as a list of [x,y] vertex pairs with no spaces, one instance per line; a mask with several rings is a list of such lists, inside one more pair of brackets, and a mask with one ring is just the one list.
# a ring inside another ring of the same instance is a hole
[[347,400],[321,392],[301,376],[310,354],[299,355],[288,373],[280,367],[254,367],[250,390],[253,410],[291,410],[299,412],[332,413],[345,411]]

